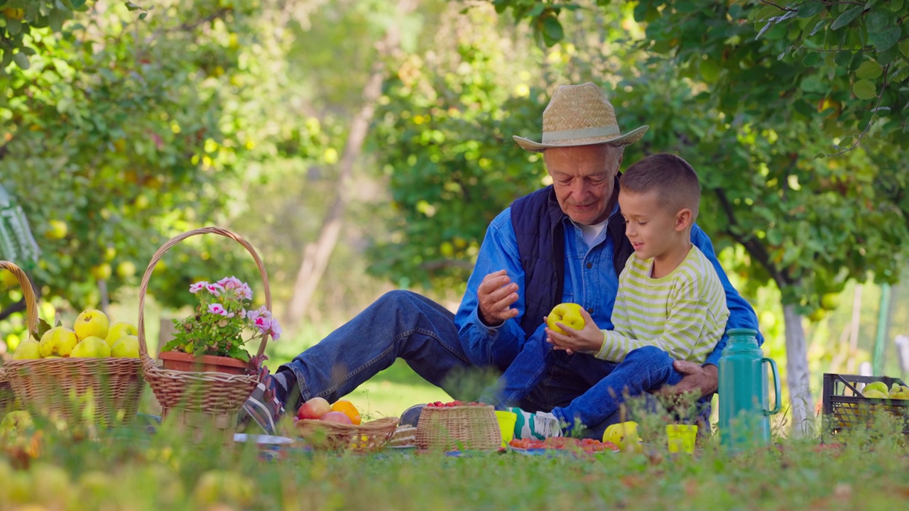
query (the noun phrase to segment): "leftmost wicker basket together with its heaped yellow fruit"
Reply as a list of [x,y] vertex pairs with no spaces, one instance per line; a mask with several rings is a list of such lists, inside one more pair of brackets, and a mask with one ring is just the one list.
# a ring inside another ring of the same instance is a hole
[[12,272],[25,296],[29,336],[15,347],[4,366],[20,406],[67,422],[93,421],[105,426],[135,418],[145,380],[136,328],[111,323],[99,310],[85,310],[72,327],[53,327],[38,319],[35,290],[15,264]]

